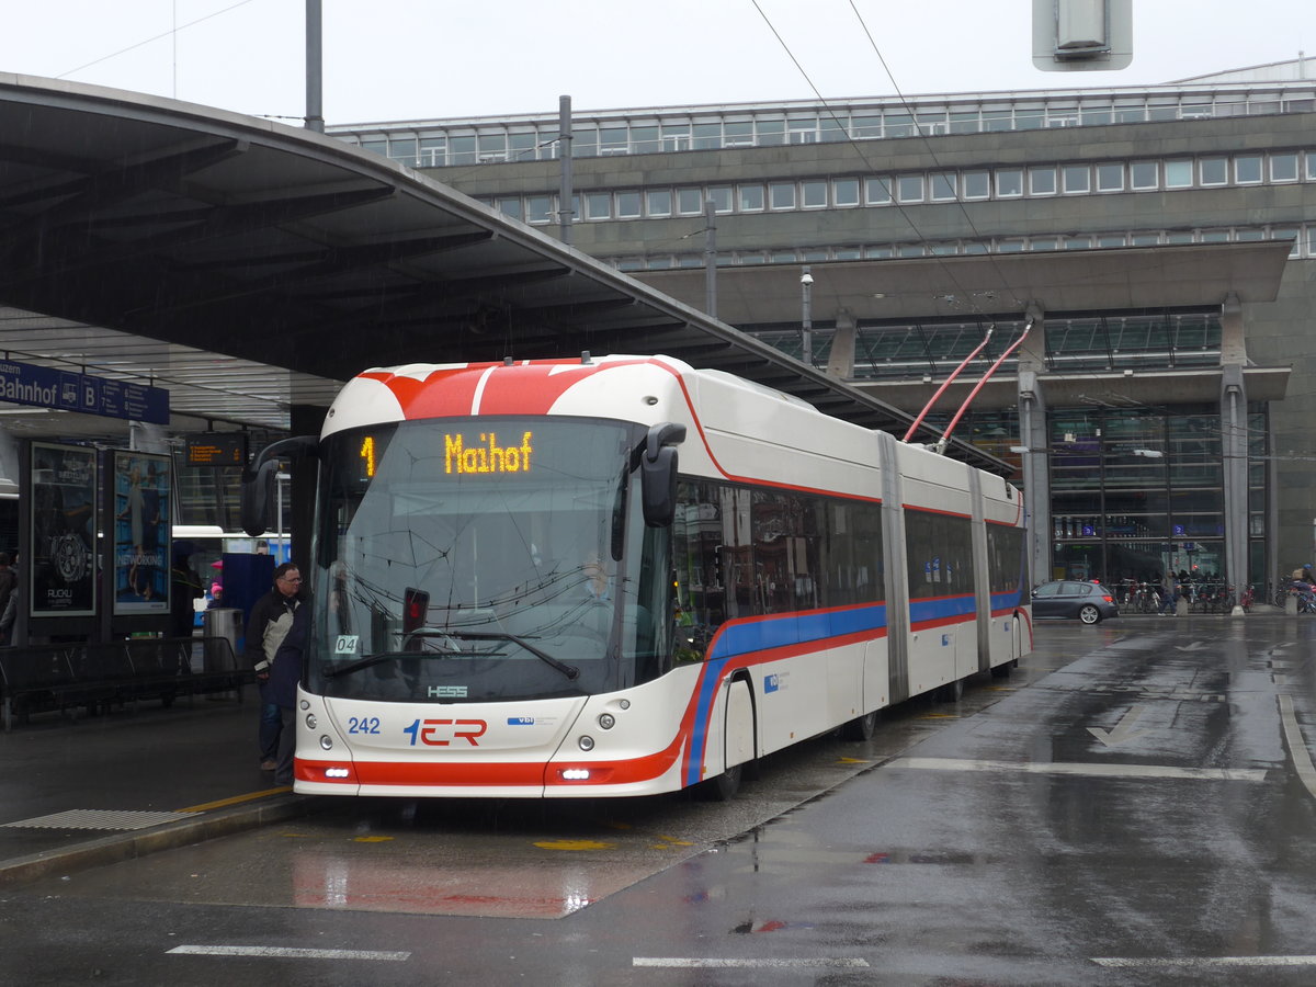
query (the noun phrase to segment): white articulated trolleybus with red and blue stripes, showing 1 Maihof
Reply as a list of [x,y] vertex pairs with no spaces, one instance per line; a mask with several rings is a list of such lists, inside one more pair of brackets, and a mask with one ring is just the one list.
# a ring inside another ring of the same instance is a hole
[[1032,647],[1013,487],[676,359],[367,371],[246,526],[301,453],[297,792],[729,797]]

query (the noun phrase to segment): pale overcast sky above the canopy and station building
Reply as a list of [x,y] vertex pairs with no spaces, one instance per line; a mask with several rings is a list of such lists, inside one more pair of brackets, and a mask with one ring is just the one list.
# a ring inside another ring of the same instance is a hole
[[[1311,0],[1133,9],[1129,68],[1054,74],[1032,64],[1029,0],[324,0],[325,118],[553,113],[559,95],[588,111],[1136,86],[1316,49]],[[303,0],[8,0],[0,11],[0,71],[291,122],[305,112]]]

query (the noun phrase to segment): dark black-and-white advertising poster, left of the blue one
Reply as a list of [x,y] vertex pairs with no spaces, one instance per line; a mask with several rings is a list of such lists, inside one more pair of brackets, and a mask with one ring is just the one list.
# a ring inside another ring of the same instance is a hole
[[96,613],[96,450],[32,443],[33,617]]

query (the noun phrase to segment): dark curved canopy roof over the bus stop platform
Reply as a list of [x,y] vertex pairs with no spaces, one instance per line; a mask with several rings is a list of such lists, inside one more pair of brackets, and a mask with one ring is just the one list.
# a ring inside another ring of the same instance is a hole
[[[149,378],[175,409],[272,424],[271,405],[326,405],[336,382],[371,366],[665,353],[869,428],[908,422],[333,138],[4,74],[0,136],[0,349],[13,359]],[[1001,466],[967,443],[951,454]]]

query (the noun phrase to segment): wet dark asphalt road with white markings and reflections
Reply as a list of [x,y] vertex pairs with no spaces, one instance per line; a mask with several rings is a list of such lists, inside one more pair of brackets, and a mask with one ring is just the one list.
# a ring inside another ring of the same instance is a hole
[[351,800],[9,888],[0,983],[1313,983],[1313,633],[1042,625],[729,804]]

